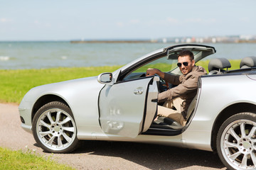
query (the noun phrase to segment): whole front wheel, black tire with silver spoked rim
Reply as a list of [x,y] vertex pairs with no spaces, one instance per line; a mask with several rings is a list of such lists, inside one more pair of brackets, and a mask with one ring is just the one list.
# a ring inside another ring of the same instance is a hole
[[59,101],[47,103],[36,112],[32,131],[36,142],[46,152],[69,153],[78,147],[73,113]]

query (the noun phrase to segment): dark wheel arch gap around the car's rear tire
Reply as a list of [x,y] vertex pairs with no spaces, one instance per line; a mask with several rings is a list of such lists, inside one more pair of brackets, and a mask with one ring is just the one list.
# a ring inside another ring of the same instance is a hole
[[235,115],[237,113],[242,112],[250,112],[256,114],[256,105],[253,103],[234,103],[227,108],[224,108],[223,111],[220,112],[218,117],[213,124],[213,129],[211,132],[211,148],[213,151],[216,151],[216,137],[218,134],[218,130],[220,126],[227,120],[230,116]]

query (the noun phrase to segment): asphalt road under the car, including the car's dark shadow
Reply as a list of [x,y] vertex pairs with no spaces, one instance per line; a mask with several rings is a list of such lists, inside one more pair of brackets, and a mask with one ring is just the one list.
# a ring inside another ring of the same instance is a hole
[[[52,155],[21,128],[18,106],[11,104],[0,103],[0,147]],[[86,141],[75,152],[53,158],[76,169],[225,169],[213,152],[133,142]]]

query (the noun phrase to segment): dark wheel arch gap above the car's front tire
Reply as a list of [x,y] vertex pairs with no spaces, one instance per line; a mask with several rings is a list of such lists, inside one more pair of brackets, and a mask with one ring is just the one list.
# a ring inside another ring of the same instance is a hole
[[36,103],[33,105],[32,113],[31,113],[31,122],[33,121],[33,117],[36,115],[36,112],[39,110],[39,108],[44,106],[46,103],[50,103],[51,101],[60,101],[62,103],[65,103],[65,105],[67,105],[70,108],[68,103],[60,96],[57,96],[54,94],[46,94],[38,98]]

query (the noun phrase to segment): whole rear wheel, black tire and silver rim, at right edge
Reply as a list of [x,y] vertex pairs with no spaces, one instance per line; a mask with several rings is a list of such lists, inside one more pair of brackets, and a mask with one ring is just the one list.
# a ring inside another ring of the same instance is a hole
[[217,152],[228,169],[256,169],[256,115],[238,113],[220,126]]

